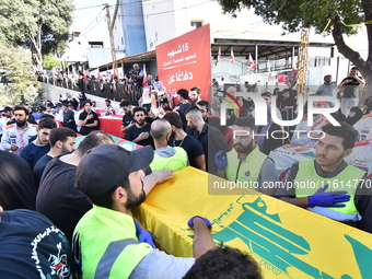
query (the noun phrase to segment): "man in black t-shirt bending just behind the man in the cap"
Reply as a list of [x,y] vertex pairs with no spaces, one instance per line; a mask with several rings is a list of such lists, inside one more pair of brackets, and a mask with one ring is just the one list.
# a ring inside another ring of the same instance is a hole
[[92,208],[86,196],[74,187],[77,167],[88,150],[107,143],[114,143],[107,132],[91,132],[75,151],[51,159],[44,170],[36,196],[36,211],[46,216],[69,241],[80,218]]

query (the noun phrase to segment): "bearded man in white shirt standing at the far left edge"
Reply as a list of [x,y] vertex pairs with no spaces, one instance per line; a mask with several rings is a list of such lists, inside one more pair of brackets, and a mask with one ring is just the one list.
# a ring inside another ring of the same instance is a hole
[[28,114],[24,106],[15,106],[15,124],[8,125],[1,138],[5,151],[19,154],[28,144],[30,138],[37,135],[36,127],[27,123]]

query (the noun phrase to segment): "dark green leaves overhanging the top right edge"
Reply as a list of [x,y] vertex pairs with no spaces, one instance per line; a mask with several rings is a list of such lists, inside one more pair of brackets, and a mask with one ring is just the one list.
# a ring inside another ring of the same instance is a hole
[[[269,24],[282,25],[289,32],[314,27],[322,33],[328,20],[337,14],[346,24],[363,23],[362,3],[359,0],[218,0],[224,12],[242,8],[254,9]],[[342,33],[353,34],[356,28],[342,26]],[[329,30],[328,30],[329,32]]]

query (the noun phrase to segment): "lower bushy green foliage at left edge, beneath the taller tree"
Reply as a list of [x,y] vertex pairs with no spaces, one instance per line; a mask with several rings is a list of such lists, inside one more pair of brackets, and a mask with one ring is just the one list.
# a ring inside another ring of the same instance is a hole
[[0,91],[0,102],[7,105],[34,102],[38,85],[31,53],[20,46],[10,46],[0,39],[0,69],[7,71],[9,86]]

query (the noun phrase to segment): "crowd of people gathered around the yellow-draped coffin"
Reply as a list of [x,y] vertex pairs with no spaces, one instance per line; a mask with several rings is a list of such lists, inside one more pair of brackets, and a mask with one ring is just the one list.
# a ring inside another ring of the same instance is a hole
[[[351,69],[338,86],[346,98],[352,98],[351,86],[357,96],[354,90],[364,84],[356,71]],[[135,79],[140,79],[139,72],[132,72]],[[324,78],[317,95],[335,96],[330,79]],[[252,86],[246,90],[252,92]],[[10,253],[0,256],[0,272],[4,278],[39,274],[47,278],[261,278],[259,266],[246,253],[214,245],[209,232],[213,224],[205,217],[185,220],[195,234],[194,258],[181,258],[155,248],[151,233],[131,216],[156,184],[173,179],[173,172],[188,165],[372,233],[372,171],[347,162],[356,142],[371,139],[372,98],[363,107],[341,101],[347,111],[333,114],[339,126],[321,113],[311,126],[305,111],[297,127],[288,128],[276,124],[271,114],[283,120],[297,117],[298,96],[291,84],[282,91],[254,93],[265,101],[265,114],[255,112],[244,92],[237,93],[234,86],[216,90],[208,102],[197,86],[179,89],[177,97],[164,89],[163,95],[152,92],[154,102],[144,105],[137,92],[138,105],[123,100],[120,112],[106,100],[106,112],[123,114],[118,129],[124,138],[142,146],[135,151],[115,144],[111,135],[97,129],[96,104],[83,92],[79,101],[60,100],[56,106],[47,102],[42,114],[23,105],[3,107],[0,247]],[[236,95],[242,108],[229,112],[225,126],[218,94]],[[277,97],[274,108],[272,96]],[[316,108],[333,105],[314,102]],[[266,118],[267,125],[257,127],[255,117]],[[55,119],[63,127],[57,128]],[[86,137],[77,148],[78,133]],[[270,152],[287,143],[310,148],[315,158],[279,173]],[[340,182],[345,187],[339,187]],[[225,265],[219,266],[221,261]]]

